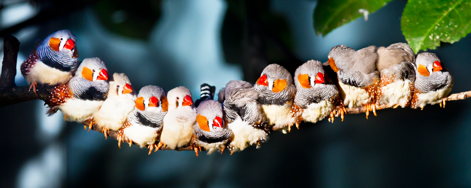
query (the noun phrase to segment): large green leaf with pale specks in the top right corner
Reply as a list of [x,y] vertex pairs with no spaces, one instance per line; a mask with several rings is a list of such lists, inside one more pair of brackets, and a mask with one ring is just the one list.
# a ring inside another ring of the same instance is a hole
[[409,0],[401,29],[415,54],[454,43],[471,32],[470,0]]

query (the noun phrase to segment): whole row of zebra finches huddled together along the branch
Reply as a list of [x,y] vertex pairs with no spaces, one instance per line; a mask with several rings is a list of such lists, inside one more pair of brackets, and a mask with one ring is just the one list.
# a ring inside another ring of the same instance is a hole
[[[62,111],[67,121],[118,133],[122,141],[147,147],[149,154],[162,146],[190,146],[231,154],[268,140],[268,133],[290,132],[300,122],[343,116],[345,107],[364,106],[366,118],[380,105],[422,108],[439,103],[445,107],[453,77],[432,53],[414,56],[405,43],[354,50],[335,46],[328,62],[310,60],[292,75],[278,64],[268,65],[255,85],[232,80],[219,90],[201,85],[193,102],[190,90],[176,87],[167,94],[159,86],[144,86],[137,93],[124,73],[108,78],[100,58],[79,62],[77,39],[69,30],[50,34],[21,65],[21,73],[36,85],[54,86],[46,100],[53,115]],[[325,67],[324,67],[325,66]],[[328,66],[336,72],[329,78]],[[325,69],[326,68],[326,69]]]

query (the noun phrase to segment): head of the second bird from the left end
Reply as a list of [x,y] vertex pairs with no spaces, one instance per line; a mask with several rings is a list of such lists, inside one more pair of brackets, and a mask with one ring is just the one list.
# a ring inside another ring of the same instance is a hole
[[108,82],[106,63],[98,57],[85,58],[75,72],[75,77],[81,77],[90,82]]

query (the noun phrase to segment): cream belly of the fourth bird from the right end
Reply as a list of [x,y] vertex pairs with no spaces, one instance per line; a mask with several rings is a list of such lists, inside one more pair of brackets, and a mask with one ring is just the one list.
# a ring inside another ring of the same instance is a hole
[[304,121],[316,123],[328,116],[333,110],[333,107],[334,106],[329,101],[309,104],[308,108],[302,111],[301,118]]

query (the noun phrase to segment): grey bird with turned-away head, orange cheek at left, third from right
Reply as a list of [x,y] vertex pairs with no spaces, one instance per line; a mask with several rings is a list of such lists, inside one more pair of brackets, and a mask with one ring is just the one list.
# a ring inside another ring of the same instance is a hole
[[378,54],[375,46],[355,51],[351,47],[338,45],[328,55],[330,67],[337,72],[339,91],[345,106],[364,105],[366,118],[373,111],[376,116],[376,94],[380,82],[376,70]]

